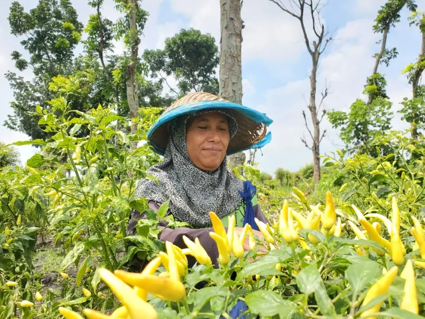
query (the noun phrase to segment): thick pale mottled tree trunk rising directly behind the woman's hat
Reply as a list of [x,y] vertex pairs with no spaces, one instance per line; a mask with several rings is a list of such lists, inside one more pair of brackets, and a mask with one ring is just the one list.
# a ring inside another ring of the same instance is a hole
[[[242,104],[242,19],[240,0],[220,0],[220,89],[219,96],[230,102]],[[245,162],[245,154],[239,152],[229,157],[229,169]]]

